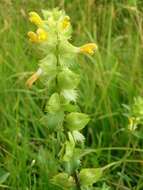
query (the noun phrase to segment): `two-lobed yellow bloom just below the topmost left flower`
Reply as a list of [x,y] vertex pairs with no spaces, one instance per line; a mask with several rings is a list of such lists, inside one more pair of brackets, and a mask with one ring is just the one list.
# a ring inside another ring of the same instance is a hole
[[35,32],[28,32],[29,40],[33,43],[39,43],[44,42],[48,39],[48,34],[45,30],[42,28],[38,28],[38,30]]

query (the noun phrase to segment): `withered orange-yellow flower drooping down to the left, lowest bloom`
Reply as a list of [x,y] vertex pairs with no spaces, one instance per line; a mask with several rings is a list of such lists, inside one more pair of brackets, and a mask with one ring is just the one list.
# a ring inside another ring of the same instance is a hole
[[33,83],[38,80],[38,78],[40,77],[40,75],[42,74],[42,69],[39,68],[37,70],[37,72],[35,72],[27,81],[26,81],[26,86],[28,86],[28,88],[31,88]]

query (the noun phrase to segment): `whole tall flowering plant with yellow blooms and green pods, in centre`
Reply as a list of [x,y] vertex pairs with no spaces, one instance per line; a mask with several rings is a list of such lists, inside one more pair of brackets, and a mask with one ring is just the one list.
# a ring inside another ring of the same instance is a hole
[[57,157],[62,169],[52,177],[51,183],[64,190],[92,189],[102,169],[81,169],[80,153],[85,139],[81,130],[90,118],[76,104],[80,76],[72,68],[78,54],[93,55],[97,45],[75,47],[69,42],[72,27],[64,11],[43,10],[42,14],[43,19],[36,12],[29,14],[29,20],[38,27],[36,32],[28,32],[29,40],[39,45],[45,57],[26,84],[31,87],[42,77],[46,87],[52,89],[42,119],[46,119],[51,133],[59,134],[61,144]]

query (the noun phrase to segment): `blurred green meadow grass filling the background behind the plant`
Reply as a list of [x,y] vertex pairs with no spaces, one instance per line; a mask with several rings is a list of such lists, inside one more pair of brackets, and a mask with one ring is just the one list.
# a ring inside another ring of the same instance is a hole
[[83,132],[86,146],[98,150],[82,164],[101,167],[122,160],[96,185],[142,190],[143,141],[126,130],[122,106],[143,95],[142,0],[0,1],[0,176],[9,173],[0,189],[52,190],[49,176],[57,163],[48,149],[56,150],[40,123],[47,91],[41,82],[29,90],[25,81],[41,56],[27,39],[32,28],[27,13],[56,6],[71,17],[75,45],[95,41],[99,47],[94,57],[79,57],[79,104],[92,118]]

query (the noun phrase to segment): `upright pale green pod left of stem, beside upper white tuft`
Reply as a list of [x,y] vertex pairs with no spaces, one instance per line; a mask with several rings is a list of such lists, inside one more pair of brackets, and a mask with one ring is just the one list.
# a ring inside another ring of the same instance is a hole
[[46,111],[50,112],[50,113],[54,113],[59,111],[61,108],[60,105],[60,96],[58,93],[54,93],[52,94],[52,96],[50,97],[48,104],[46,105]]

